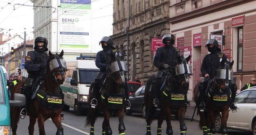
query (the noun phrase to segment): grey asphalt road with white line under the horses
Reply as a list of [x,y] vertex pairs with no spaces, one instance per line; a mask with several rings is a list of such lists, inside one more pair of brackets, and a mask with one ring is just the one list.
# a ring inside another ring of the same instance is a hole
[[[75,116],[73,114],[73,110],[69,112],[64,112],[64,120],[62,120],[62,125],[64,128],[64,135],[89,135],[90,127],[85,127],[85,116]],[[103,116],[99,116],[95,123],[95,135],[102,134],[102,121]],[[179,122],[177,120],[173,120],[173,135],[180,135],[180,127]],[[202,131],[199,129],[197,121],[189,121],[185,120],[187,126],[187,135],[202,135]],[[20,119],[17,134],[18,135],[28,135],[28,124],[29,117],[25,119]],[[110,119],[111,129],[113,131],[113,135],[119,135],[118,133],[118,117],[112,116]],[[146,133],[146,122],[145,119],[142,118],[140,113],[133,113],[132,116],[125,116],[124,124],[126,126],[126,135],[145,135]],[[156,135],[156,127],[157,120],[155,119],[151,125],[152,135]],[[55,135],[57,128],[54,123],[50,119],[45,121],[45,131],[46,135]],[[162,133],[166,135],[166,122],[162,124]],[[39,135],[37,123],[35,125],[34,135]],[[221,134],[216,134],[221,135]],[[242,132],[238,130],[229,129],[228,135],[252,135],[252,133]]]

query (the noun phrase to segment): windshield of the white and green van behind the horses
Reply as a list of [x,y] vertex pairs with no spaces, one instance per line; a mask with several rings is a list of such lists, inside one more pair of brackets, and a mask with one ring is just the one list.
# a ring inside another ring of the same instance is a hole
[[91,84],[95,80],[99,69],[79,69],[79,83]]

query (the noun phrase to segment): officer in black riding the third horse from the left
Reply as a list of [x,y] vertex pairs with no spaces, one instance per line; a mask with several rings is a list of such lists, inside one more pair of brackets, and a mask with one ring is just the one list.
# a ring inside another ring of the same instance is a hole
[[[156,50],[156,55],[154,56],[154,65],[158,68],[158,72],[156,73],[156,77],[152,87],[152,98],[154,99],[154,106],[157,107],[159,105],[158,93],[161,83],[161,78],[168,72],[170,69],[171,74],[175,77],[175,66],[178,64],[178,56],[180,55],[180,49],[173,47],[175,43],[174,35],[168,33],[163,36],[162,42],[164,43],[164,47],[160,47]],[[189,103],[189,101],[185,101]]]

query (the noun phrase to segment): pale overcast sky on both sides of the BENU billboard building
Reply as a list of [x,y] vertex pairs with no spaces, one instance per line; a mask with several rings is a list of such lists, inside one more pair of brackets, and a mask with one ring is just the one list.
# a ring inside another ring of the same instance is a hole
[[[91,2],[91,4],[100,5],[92,6],[92,23],[99,25],[97,29],[95,28],[93,30],[99,34],[92,37],[92,52],[97,52],[101,50],[101,47],[98,45],[101,38],[103,36],[110,36],[113,33],[113,0],[91,0]],[[18,35],[21,35],[21,37],[24,37],[24,31],[26,31],[26,39],[32,39],[32,6],[33,3],[30,0],[0,0],[0,33],[6,35],[11,34],[12,36],[17,33]]]

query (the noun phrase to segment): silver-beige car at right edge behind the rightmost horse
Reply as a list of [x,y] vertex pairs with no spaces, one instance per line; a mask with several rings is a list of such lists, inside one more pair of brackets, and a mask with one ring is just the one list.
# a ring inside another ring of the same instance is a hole
[[[256,135],[256,87],[248,88],[236,95],[237,112],[229,112],[227,127],[230,129],[252,132]],[[220,117],[219,114],[217,117]],[[217,131],[221,121],[216,120]]]

